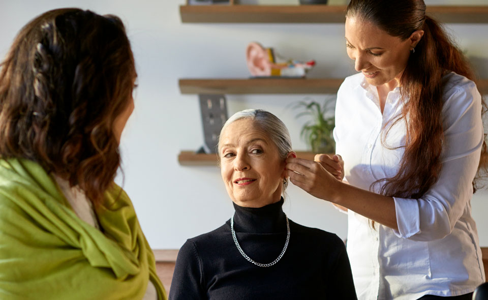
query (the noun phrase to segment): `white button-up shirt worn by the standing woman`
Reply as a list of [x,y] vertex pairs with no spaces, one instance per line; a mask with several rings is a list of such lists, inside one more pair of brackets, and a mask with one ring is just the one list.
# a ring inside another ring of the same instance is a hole
[[[485,281],[470,204],[483,142],[481,96],[463,76],[450,73],[443,80],[444,145],[437,183],[419,199],[394,198],[398,231],[378,223],[372,228],[367,218],[349,211],[347,250],[359,299],[455,296]],[[369,190],[377,179],[398,171],[405,124],[396,123],[386,136],[384,126],[402,107],[400,87],[388,93],[381,113],[377,89],[361,73],[341,85],[334,138],[349,184]]]

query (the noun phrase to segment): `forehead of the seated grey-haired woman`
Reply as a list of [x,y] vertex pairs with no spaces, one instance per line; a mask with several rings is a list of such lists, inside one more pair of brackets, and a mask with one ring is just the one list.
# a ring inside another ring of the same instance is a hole
[[242,144],[254,139],[269,141],[268,134],[262,130],[254,119],[243,118],[229,124],[222,132],[220,144]]

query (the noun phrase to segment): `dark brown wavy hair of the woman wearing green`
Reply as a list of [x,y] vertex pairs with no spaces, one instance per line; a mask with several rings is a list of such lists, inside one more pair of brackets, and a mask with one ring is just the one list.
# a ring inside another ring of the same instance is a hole
[[124,24],[48,11],[21,29],[0,68],[0,156],[35,161],[99,203],[120,165],[114,121],[137,76]]

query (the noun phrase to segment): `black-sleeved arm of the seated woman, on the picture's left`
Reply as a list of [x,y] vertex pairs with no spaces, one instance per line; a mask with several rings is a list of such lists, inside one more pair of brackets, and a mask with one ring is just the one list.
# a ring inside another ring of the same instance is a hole
[[169,300],[206,299],[206,291],[202,284],[203,268],[200,256],[195,244],[187,241],[176,258]]

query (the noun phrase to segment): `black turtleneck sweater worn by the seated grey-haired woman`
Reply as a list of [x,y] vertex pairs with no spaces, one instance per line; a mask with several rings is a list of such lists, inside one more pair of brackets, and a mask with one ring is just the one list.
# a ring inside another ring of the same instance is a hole
[[[242,250],[268,263],[286,241],[283,199],[260,208],[234,204],[234,230]],[[176,259],[170,300],[356,299],[351,266],[341,239],[290,220],[290,242],[270,267],[247,261],[232,239],[230,220],[190,238]]]

